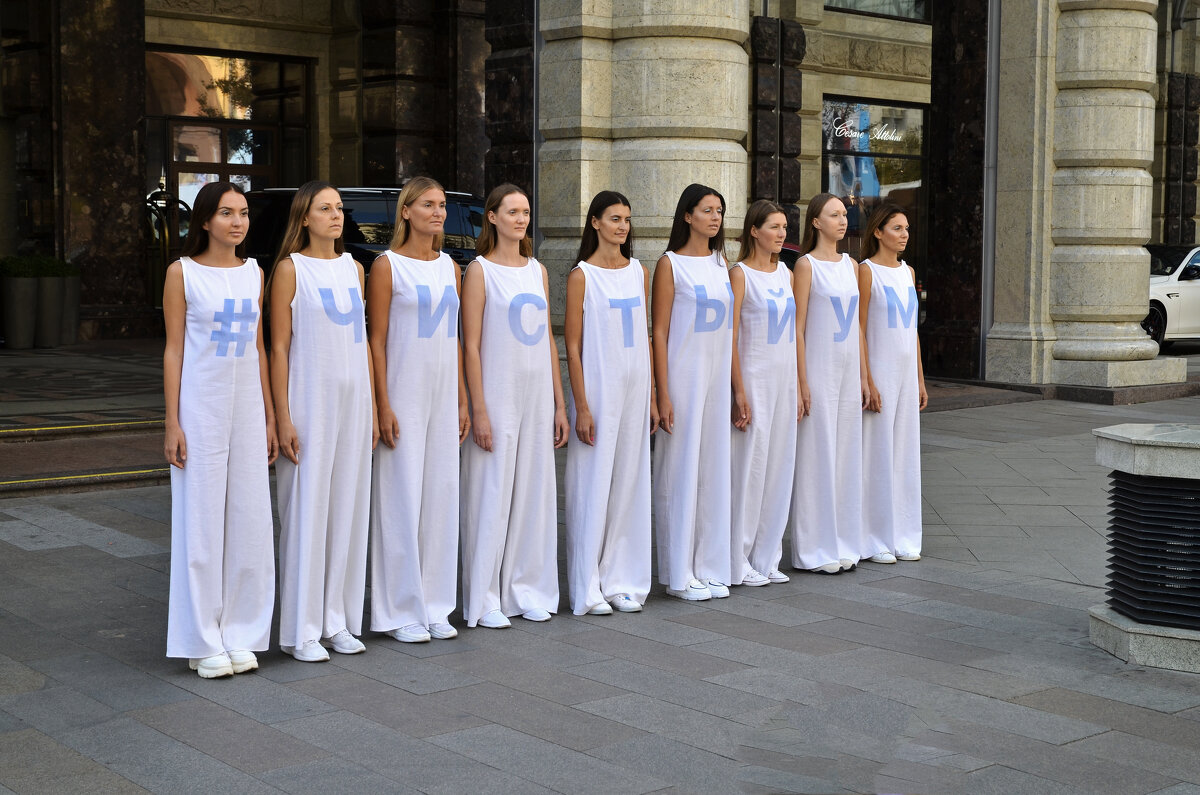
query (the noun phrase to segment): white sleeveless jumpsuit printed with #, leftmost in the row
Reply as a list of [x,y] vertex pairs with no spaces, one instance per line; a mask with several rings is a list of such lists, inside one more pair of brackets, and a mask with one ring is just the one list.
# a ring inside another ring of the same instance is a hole
[[167,656],[265,651],[275,555],[257,342],[262,271],[253,259],[238,268],[180,262],[187,461],[170,467]]

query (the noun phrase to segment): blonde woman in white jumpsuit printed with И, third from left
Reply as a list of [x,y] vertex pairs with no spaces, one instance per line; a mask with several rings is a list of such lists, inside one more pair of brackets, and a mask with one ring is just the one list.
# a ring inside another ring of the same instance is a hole
[[442,186],[409,180],[391,247],[367,280],[383,441],[371,480],[371,628],[402,642],[458,634],[449,615],[458,591],[458,444],[469,422],[445,217]]

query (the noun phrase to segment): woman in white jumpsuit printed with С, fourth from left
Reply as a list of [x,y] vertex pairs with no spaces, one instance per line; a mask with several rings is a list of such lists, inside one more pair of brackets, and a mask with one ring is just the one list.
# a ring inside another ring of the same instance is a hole
[[558,611],[554,449],[569,426],[546,269],[530,253],[529,199],[492,190],[462,285],[472,438],[462,454],[462,611],[468,627]]

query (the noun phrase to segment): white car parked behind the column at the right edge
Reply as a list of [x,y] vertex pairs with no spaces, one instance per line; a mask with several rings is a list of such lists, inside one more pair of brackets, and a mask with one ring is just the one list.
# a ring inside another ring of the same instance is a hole
[[1150,245],[1150,313],[1141,328],[1159,347],[1200,339],[1200,246]]

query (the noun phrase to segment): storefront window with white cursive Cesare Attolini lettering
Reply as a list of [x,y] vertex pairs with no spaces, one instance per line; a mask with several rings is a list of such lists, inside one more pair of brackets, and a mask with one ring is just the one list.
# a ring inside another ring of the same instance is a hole
[[881,202],[908,211],[912,227],[905,258],[925,251],[925,110],[917,106],[874,104],[827,97],[821,118],[824,190],[846,204],[845,250],[857,256],[862,228]]

